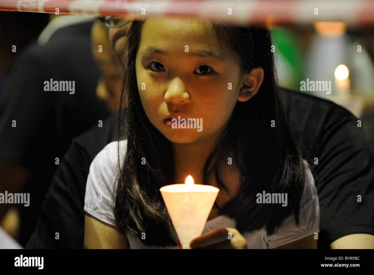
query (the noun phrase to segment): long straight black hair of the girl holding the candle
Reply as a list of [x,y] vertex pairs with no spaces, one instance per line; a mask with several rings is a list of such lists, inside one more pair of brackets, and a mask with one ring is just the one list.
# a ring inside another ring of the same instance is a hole
[[[127,150],[114,198],[114,215],[122,232],[129,232],[145,245],[176,246],[175,230],[160,193],[160,187],[175,184],[175,162],[171,142],[148,120],[137,85],[135,58],[144,21],[133,21],[128,32],[123,92],[126,101]],[[241,173],[240,186],[218,215],[236,221],[240,233],[262,227],[271,235],[292,213],[298,223],[304,188],[304,164],[286,123],[276,84],[270,31],[256,25],[229,25],[209,22],[220,42],[240,56],[242,73],[255,67],[264,69],[264,80],[251,99],[237,101],[233,113],[208,156],[202,170],[202,184],[214,176],[218,187],[226,190],[220,178],[222,165],[232,162]],[[123,113],[122,113],[123,114]],[[275,126],[275,127],[274,127]],[[120,138],[119,138],[120,139]],[[118,149],[119,150],[119,149]],[[118,158],[120,156],[118,155]],[[123,158],[123,156],[122,156]],[[145,165],[141,164],[142,160]],[[287,193],[288,205],[257,204],[257,193]],[[145,233],[145,238],[141,238]]]

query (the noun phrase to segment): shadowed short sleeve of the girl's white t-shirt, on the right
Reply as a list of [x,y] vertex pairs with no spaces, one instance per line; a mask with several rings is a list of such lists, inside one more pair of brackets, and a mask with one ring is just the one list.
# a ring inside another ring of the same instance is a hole
[[319,232],[319,202],[317,189],[312,172],[306,161],[304,161],[304,164],[306,168],[305,185],[300,201],[299,224],[296,224],[295,216],[291,214],[272,235],[267,236],[265,233],[265,241],[270,249]]

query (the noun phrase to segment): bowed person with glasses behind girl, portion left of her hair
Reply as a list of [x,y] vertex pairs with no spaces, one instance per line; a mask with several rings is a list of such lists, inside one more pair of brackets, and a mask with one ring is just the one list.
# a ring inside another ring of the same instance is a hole
[[[73,138],[53,176],[26,248],[83,248],[83,199],[87,175],[95,155],[117,137],[119,96],[123,84],[120,62],[124,56],[123,47],[118,45],[117,55],[114,56],[114,48],[108,40],[108,28],[102,21],[103,18],[100,18],[93,23],[91,49],[101,70],[96,94],[106,101],[112,116],[103,120],[102,128],[93,126]],[[127,28],[128,25],[116,28],[115,39],[125,43]],[[113,39],[113,35],[110,37]],[[98,51],[99,46],[102,46],[102,52]],[[126,108],[126,103],[123,106]],[[55,232],[59,232],[60,239],[55,238]]]

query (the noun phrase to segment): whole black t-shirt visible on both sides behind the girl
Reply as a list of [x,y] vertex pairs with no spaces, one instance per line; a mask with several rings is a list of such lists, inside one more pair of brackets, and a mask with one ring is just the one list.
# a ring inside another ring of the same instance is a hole
[[[358,119],[331,101],[286,89],[281,95],[297,146],[314,166],[321,215],[318,248],[353,233],[374,235],[374,166]],[[116,140],[116,123],[117,117],[111,117],[103,128],[93,127],[73,140],[26,248],[83,248],[89,166]],[[357,202],[358,195],[362,202]]]

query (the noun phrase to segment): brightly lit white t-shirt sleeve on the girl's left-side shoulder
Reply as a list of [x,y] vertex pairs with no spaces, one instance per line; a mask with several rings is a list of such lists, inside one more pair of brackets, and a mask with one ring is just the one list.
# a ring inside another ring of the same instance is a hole
[[116,141],[109,143],[93,159],[87,178],[84,206],[85,212],[113,226],[117,226],[113,196],[119,179],[117,145]]

